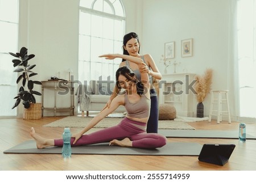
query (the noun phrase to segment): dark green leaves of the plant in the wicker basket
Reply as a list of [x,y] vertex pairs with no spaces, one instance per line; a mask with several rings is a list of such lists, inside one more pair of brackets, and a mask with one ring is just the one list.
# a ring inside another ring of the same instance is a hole
[[[28,61],[35,57],[34,54],[27,54],[27,48],[23,47],[20,49],[19,53],[9,53],[11,56],[16,57],[13,60],[13,66],[18,66],[17,69],[14,70],[14,72],[21,73],[16,81],[18,84],[22,80],[22,86],[19,88],[18,95],[14,98],[16,99],[16,102],[13,106],[13,108],[17,107],[22,100],[22,104],[24,105],[24,108],[30,108],[31,103],[36,103],[35,95],[42,95],[40,92],[33,90],[34,84],[42,84],[42,82],[39,81],[32,81],[30,77],[33,77],[37,75],[37,73],[34,73],[31,71],[36,65],[28,65]],[[27,90],[26,87],[27,86]],[[12,109],[13,109],[12,108]]]

